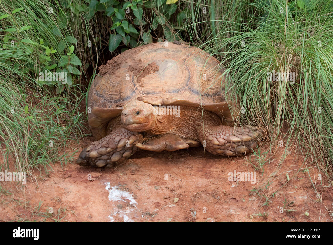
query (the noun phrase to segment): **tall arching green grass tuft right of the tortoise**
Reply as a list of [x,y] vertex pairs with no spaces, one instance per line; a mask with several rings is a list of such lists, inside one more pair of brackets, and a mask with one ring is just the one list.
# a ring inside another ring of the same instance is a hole
[[[179,8],[187,17],[177,35],[227,67],[226,94],[243,107],[240,124],[263,127],[272,148],[282,140],[286,153],[295,145],[308,162],[332,171],[332,2],[199,0]],[[271,79],[273,71],[295,79]]]

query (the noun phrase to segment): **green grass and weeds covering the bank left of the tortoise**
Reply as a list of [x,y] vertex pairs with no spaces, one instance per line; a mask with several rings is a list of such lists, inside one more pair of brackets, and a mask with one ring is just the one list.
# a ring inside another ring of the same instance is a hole
[[[72,4],[77,2],[81,1]],[[90,35],[94,25],[70,8],[60,6],[61,3],[64,2],[46,1],[42,5],[35,0],[0,2],[2,171],[14,168],[29,174],[32,168],[37,168],[47,173],[54,163],[67,164],[72,160],[72,154],[64,147],[82,137],[86,115],[80,111],[80,102],[85,100],[86,89],[81,84],[87,84],[89,78],[84,73],[68,72],[74,82],[67,80],[65,86],[61,82],[38,80],[39,72],[63,68],[56,66],[61,56],[79,57],[82,66],[75,62],[71,65],[81,71],[87,63],[94,66],[97,63],[92,58],[92,49],[85,48],[88,38],[95,40]],[[73,44],[73,54],[66,54]],[[52,68],[52,64],[56,67]]]

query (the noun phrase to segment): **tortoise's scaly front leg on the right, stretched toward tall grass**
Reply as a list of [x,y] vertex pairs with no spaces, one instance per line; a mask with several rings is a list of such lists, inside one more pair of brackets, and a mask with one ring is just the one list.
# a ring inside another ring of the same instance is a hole
[[[249,153],[257,147],[262,131],[256,127],[205,126],[197,128],[198,138],[214,155],[235,156]],[[205,140],[205,141],[204,141]]]

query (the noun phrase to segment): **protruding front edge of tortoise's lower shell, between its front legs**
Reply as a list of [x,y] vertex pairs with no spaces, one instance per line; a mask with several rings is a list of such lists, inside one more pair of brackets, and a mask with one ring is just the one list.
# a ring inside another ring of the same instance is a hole
[[177,151],[191,146],[199,146],[200,143],[190,139],[184,139],[176,134],[163,134],[153,137],[148,142],[138,143],[136,146],[147,151]]

